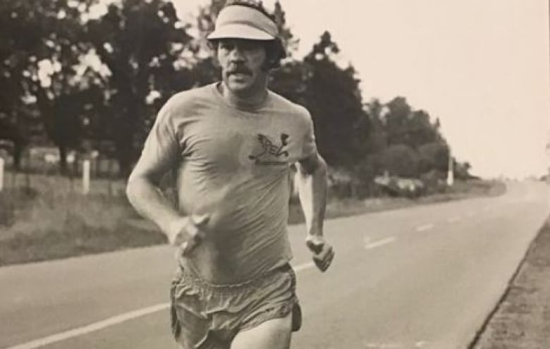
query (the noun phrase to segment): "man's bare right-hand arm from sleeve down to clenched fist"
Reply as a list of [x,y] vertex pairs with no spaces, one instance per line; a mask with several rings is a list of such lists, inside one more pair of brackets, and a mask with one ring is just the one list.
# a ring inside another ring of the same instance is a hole
[[334,250],[323,237],[326,209],[326,163],[317,153],[297,164],[298,195],[305,216],[306,244],[313,252],[313,261],[321,271],[329,268]]

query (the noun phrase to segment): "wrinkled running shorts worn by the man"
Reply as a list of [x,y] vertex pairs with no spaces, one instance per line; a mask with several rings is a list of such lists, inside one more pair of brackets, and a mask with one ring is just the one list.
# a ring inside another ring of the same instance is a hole
[[171,325],[182,349],[230,348],[240,331],[293,314],[301,325],[296,276],[286,264],[245,283],[215,285],[179,268],[171,285]]

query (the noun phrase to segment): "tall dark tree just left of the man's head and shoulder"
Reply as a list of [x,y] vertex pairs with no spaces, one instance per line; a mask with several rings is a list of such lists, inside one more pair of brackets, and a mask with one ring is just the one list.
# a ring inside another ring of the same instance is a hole
[[154,114],[154,99],[193,86],[188,71],[176,69],[191,37],[171,2],[123,0],[87,23],[87,39],[109,69],[104,133],[114,140],[118,162],[128,173]]

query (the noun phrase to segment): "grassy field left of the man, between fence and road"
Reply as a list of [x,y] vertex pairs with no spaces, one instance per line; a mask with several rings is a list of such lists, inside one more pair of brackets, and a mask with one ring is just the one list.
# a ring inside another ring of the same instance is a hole
[[19,174],[0,192],[0,265],[59,259],[164,242],[164,235],[128,226],[137,217],[123,183],[80,182]]

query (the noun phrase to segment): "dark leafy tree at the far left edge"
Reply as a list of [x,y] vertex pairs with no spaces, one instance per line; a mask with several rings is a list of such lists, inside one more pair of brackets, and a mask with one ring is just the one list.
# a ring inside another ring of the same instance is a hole
[[[80,140],[83,99],[90,89],[78,69],[87,44],[82,39],[83,12],[94,0],[16,1],[0,5],[0,114],[25,138],[24,104],[36,102],[44,130],[61,152]],[[17,162],[17,161],[16,161]]]

